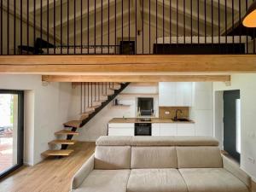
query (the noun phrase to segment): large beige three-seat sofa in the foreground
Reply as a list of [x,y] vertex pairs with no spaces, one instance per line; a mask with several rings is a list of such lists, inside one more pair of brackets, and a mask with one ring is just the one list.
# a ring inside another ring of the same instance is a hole
[[72,192],[248,192],[212,137],[100,137]]

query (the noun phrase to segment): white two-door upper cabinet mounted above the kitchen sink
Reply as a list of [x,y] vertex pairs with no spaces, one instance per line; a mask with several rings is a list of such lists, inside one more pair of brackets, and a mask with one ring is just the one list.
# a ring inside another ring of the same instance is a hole
[[192,105],[192,83],[159,83],[160,106],[190,107]]

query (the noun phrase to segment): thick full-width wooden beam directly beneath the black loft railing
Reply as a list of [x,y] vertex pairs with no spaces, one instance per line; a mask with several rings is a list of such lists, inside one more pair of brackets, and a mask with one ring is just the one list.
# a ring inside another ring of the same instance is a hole
[[4,55],[0,73],[256,73],[256,55]]

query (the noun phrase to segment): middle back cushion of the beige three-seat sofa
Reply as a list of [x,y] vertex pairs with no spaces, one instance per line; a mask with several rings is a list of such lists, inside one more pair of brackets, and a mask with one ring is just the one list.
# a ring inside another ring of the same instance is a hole
[[174,147],[131,147],[131,169],[177,168]]

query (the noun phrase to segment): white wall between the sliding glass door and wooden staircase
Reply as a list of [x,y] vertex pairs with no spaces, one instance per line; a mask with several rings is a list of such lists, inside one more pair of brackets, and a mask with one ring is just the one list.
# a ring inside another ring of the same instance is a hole
[[25,163],[37,164],[67,121],[71,84],[42,86],[40,75],[0,75],[0,89],[25,91]]

